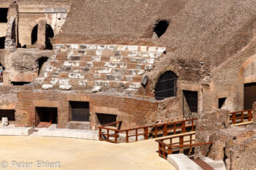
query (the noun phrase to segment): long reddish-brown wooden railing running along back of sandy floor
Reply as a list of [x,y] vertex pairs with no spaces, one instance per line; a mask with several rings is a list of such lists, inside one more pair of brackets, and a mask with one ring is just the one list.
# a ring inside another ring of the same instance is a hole
[[[99,140],[117,143],[118,134],[126,134],[126,142],[129,142],[129,137],[135,136],[135,141],[138,141],[139,136],[143,136],[144,139],[151,137],[167,136],[171,134],[181,134],[187,131],[195,131],[195,120],[181,120],[171,123],[162,123],[156,125],[141,126],[138,128],[129,128],[120,130],[121,121],[110,123],[108,125],[102,125],[99,127]],[[119,124],[119,125],[118,125]],[[118,128],[106,126],[118,125]],[[112,138],[112,139],[110,139]]]

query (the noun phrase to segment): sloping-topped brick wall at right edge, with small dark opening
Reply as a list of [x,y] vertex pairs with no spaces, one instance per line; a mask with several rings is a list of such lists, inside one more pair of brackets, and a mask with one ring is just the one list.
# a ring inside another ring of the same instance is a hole
[[255,82],[255,50],[256,41],[253,40],[244,50],[214,70],[203,89],[205,110],[218,108],[218,98],[227,98],[223,109],[230,112],[244,109],[244,83]]

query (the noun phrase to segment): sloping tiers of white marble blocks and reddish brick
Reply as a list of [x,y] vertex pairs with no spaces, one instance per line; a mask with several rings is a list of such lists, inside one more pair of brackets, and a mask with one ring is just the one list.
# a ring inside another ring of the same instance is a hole
[[137,90],[164,51],[147,45],[55,44],[42,89]]

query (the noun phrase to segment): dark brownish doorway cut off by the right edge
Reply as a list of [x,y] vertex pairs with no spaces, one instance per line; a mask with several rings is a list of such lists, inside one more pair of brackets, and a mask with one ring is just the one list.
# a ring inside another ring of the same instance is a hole
[[256,82],[244,84],[244,109],[252,109],[256,101]]

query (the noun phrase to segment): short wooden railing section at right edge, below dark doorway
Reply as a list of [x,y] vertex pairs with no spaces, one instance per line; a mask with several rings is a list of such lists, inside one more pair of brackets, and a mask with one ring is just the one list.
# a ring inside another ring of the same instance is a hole
[[230,112],[230,121],[232,124],[252,121],[252,109],[246,109],[238,112]]

